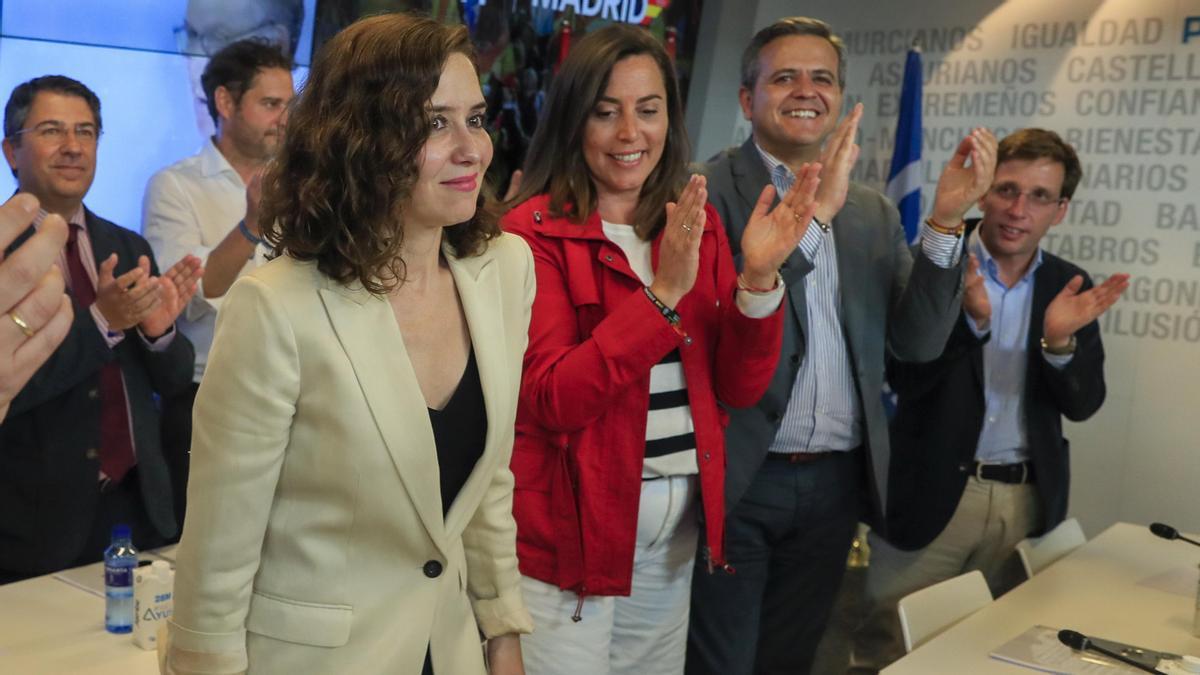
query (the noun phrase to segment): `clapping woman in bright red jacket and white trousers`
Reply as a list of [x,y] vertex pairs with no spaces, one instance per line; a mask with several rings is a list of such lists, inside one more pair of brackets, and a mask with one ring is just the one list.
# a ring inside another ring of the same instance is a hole
[[818,167],[774,209],[763,191],[737,274],[689,153],[666,52],[601,29],[556,76],[503,221],[538,277],[512,453],[530,675],[682,673],[698,522],[724,567],[720,404],[774,372]]

